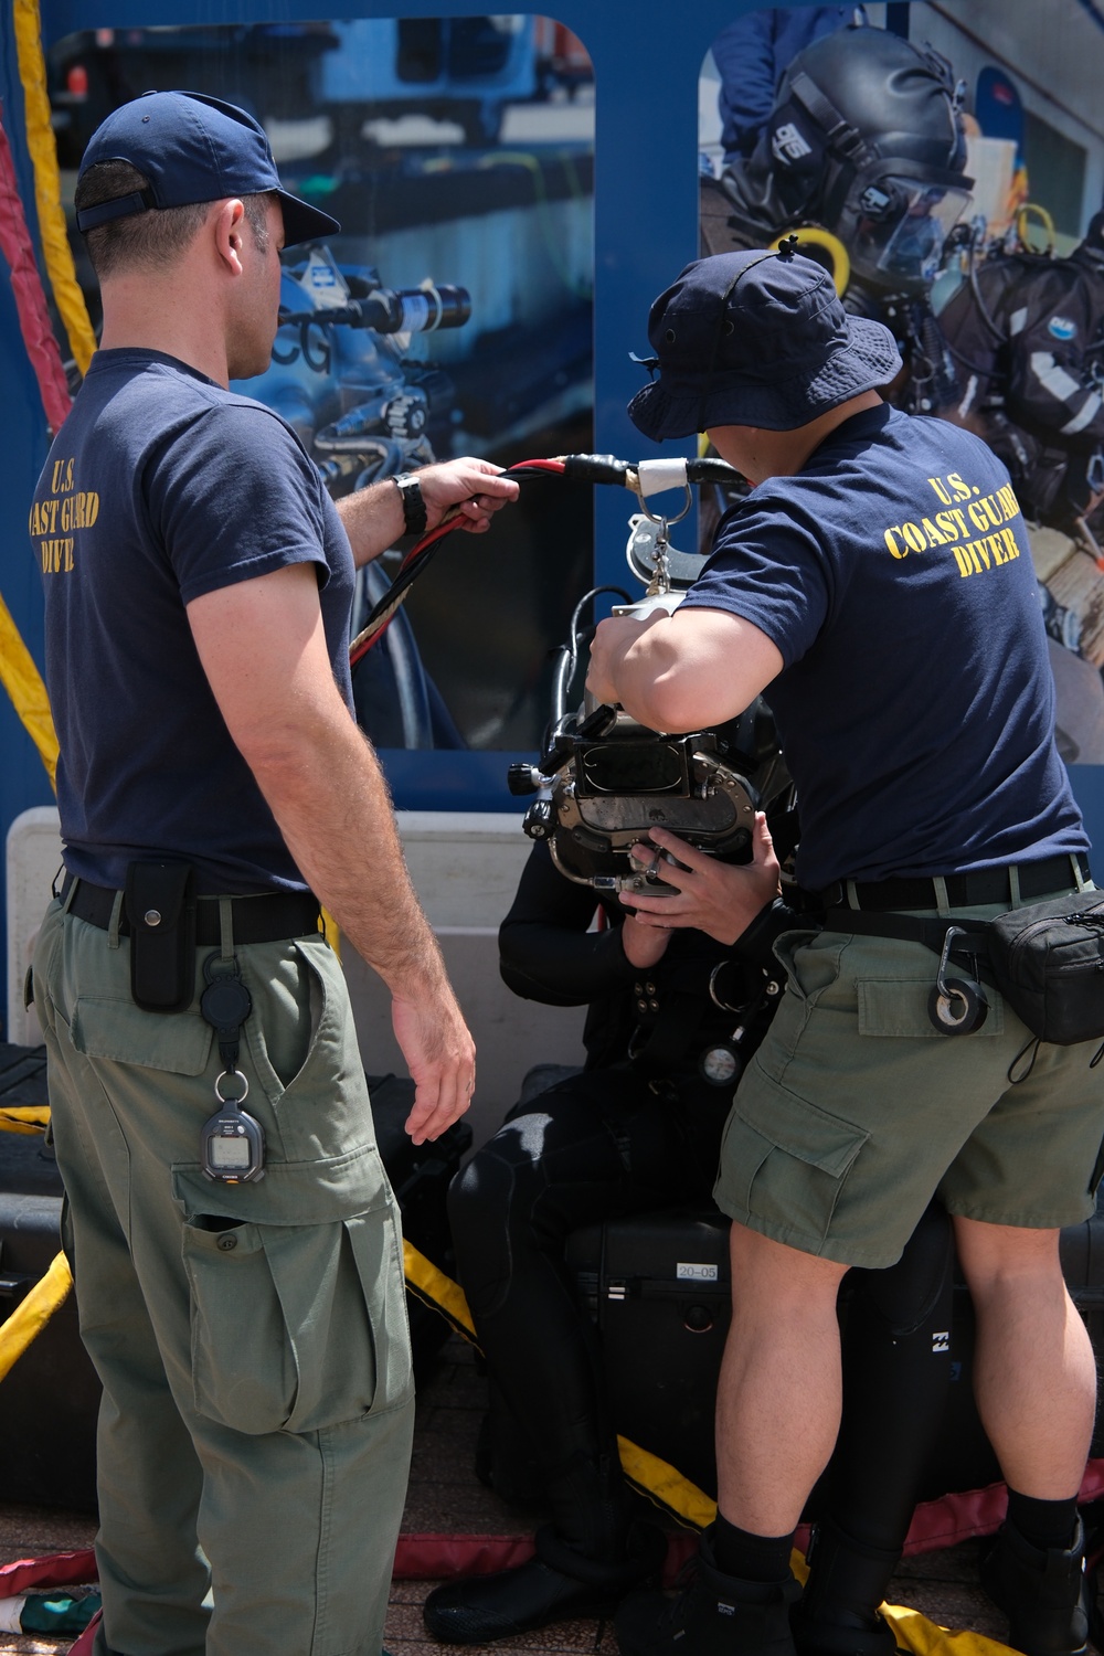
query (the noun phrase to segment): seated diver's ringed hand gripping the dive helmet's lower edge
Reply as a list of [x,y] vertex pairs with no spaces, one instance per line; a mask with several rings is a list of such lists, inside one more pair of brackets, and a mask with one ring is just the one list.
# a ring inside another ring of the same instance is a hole
[[[751,861],[746,864],[718,863],[715,856],[695,851],[679,835],[665,828],[649,830],[654,845],[632,846],[637,863],[652,863],[665,886],[674,886],[672,896],[639,896],[622,893],[642,926],[694,926],[717,942],[735,942],[755,916],[778,896],[778,858],[763,811],[755,813],[751,836]],[[669,851],[685,868],[675,868],[660,859],[659,851]]]

